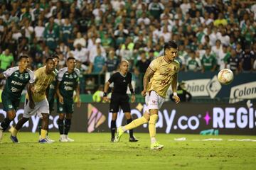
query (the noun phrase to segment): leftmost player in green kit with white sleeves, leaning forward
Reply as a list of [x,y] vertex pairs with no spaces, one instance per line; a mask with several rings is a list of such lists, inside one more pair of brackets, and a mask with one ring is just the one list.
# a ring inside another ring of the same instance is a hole
[[4,91],[1,94],[4,111],[7,115],[0,125],[0,142],[3,132],[9,127],[10,123],[16,117],[16,108],[18,108],[21,92],[25,88],[28,81],[33,84],[33,72],[28,69],[28,56],[21,55],[18,59],[18,67],[12,67],[0,74],[0,79],[6,79]]

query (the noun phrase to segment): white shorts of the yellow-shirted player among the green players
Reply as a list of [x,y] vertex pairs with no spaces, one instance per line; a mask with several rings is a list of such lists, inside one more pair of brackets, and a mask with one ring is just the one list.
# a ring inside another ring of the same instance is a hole
[[35,108],[33,109],[29,107],[29,100],[25,101],[23,118],[30,118],[32,115],[38,115],[39,118],[42,118],[42,113],[50,113],[46,98],[43,101],[35,102]]

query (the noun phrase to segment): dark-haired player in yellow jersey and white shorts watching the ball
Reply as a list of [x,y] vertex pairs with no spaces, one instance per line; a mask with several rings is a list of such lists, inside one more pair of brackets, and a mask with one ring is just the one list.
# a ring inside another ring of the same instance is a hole
[[137,118],[132,123],[129,123],[129,125],[119,127],[117,129],[117,136],[115,137],[116,142],[119,142],[126,130],[131,130],[144,123],[149,123],[150,148],[152,150],[158,150],[164,147],[164,145],[156,141],[156,121],[159,117],[158,111],[164,103],[164,98],[170,85],[174,91],[174,101],[176,103],[180,101],[176,92],[179,63],[174,59],[177,53],[178,45],[176,42],[167,42],[164,45],[164,56],[153,60],[146,69],[143,80],[144,90],[142,91],[142,96],[146,96],[146,112],[142,118]]

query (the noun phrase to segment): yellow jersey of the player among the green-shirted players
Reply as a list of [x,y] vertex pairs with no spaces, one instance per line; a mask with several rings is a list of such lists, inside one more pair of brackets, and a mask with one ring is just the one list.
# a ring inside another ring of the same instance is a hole
[[[46,74],[46,67],[41,67],[34,72],[34,93],[32,93],[32,98],[34,102],[43,101],[46,98],[46,89],[50,83],[55,79],[55,73],[51,72]],[[28,99],[28,94],[26,94]]]

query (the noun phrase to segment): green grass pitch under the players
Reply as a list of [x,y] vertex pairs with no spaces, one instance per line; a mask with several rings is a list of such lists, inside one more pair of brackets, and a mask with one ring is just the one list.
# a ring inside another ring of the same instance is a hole
[[[38,134],[18,133],[20,143],[4,133],[0,144],[1,169],[255,169],[256,142],[228,141],[255,136],[201,136],[157,134],[164,145],[161,151],[149,149],[149,134],[136,133],[139,142],[111,143],[109,133],[74,133],[75,142],[58,142],[58,133],[50,132],[57,142],[39,144]],[[174,138],[186,137],[185,141]],[[195,141],[221,138],[222,141]]]

